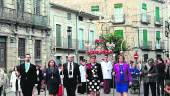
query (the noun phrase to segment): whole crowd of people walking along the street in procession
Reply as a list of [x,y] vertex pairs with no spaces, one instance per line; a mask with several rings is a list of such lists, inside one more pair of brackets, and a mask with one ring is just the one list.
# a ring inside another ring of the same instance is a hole
[[[108,55],[97,62],[96,55],[91,55],[89,60],[82,59],[78,64],[69,55],[66,63],[56,64],[51,59],[44,69],[30,61],[31,55],[26,54],[25,63],[14,67],[11,73],[9,86],[16,96],[33,96],[35,88],[40,95],[44,84],[49,96],[62,96],[59,94],[63,88],[61,85],[66,88],[67,96],[76,96],[76,90],[79,94],[100,96],[101,88],[104,94],[109,94],[112,87],[120,96],[128,96],[128,89],[132,87],[136,77],[139,77],[138,81],[143,85],[144,96],[149,96],[150,89],[152,96],[170,94],[170,59],[163,60],[159,57],[156,60],[151,58],[145,63],[132,60],[127,62],[120,54],[117,62]],[[0,68],[0,96],[7,84],[7,77]]]

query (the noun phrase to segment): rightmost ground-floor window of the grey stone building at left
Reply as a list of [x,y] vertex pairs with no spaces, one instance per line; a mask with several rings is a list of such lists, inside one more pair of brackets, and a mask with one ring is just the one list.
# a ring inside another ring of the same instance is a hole
[[41,40],[35,40],[34,47],[35,59],[41,59]]

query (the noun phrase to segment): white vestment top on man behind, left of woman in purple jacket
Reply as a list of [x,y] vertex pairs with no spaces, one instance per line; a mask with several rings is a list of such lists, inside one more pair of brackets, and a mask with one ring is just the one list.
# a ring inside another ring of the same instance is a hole
[[103,79],[112,79],[112,69],[113,69],[112,62],[102,61],[101,67],[102,67]]

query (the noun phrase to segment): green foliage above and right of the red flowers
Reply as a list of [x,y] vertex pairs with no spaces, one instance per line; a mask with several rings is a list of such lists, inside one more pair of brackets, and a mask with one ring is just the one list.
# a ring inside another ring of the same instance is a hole
[[[106,43],[114,43],[115,44],[115,48],[113,49],[115,53],[118,53],[121,51],[121,43],[123,41],[123,38],[118,37],[116,35],[114,35],[113,33],[107,33],[107,34],[101,34],[100,36],[101,39],[105,40],[105,48],[106,47]],[[128,48],[126,46],[126,41],[124,41],[124,43],[122,44],[122,51],[126,51]]]

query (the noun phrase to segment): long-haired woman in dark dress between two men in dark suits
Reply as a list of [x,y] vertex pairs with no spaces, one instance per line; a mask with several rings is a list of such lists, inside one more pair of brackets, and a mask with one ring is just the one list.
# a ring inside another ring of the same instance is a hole
[[48,62],[48,68],[46,70],[46,82],[49,96],[56,96],[61,80],[59,70],[54,60],[50,60]]

